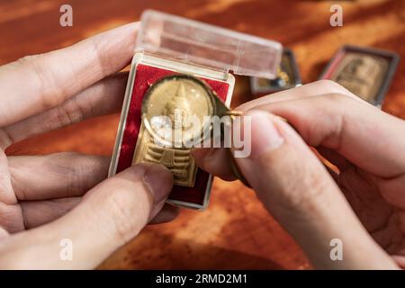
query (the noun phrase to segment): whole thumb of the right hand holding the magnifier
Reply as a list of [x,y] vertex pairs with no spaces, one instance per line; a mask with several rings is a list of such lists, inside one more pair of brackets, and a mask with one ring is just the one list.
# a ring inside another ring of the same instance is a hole
[[[395,267],[295,130],[267,112],[253,110],[245,117],[251,117],[251,153],[236,158],[238,166],[312,263],[320,268]],[[236,122],[236,129],[240,127]],[[345,245],[342,261],[330,258],[333,238]],[[359,245],[369,251],[367,255],[359,251]]]

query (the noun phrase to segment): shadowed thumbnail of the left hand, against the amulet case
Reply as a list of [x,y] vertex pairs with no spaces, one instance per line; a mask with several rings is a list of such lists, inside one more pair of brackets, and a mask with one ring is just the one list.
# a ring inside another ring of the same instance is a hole
[[148,164],[143,182],[153,193],[153,201],[158,204],[165,201],[173,187],[173,175],[165,167],[157,164]]

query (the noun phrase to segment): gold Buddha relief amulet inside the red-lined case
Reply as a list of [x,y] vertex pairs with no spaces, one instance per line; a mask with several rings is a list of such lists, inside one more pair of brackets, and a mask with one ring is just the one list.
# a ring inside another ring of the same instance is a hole
[[[132,162],[166,166],[175,184],[193,186],[197,166],[184,143],[201,137],[212,114],[209,88],[192,76],[167,76],[152,85],[142,103],[142,124]],[[192,117],[200,125],[190,121]]]

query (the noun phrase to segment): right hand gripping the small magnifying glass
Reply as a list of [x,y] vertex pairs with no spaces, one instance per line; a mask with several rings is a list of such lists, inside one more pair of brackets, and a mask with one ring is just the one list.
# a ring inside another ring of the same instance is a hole
[[[314,266],[405,267],[405,121],[331,81],[236,110],[252,117],[252,151],[236,158],[238,166]],[[309,146],[338,173],[328,171]],[[195,149],[193,155],[203,169],[234,179],[224,149]],[[343,261],[329,257],[333,238],[342,240]]]

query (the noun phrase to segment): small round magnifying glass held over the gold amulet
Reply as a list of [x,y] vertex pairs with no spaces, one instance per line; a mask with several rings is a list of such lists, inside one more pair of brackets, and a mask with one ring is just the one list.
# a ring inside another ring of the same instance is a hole
[[[202,80],[184,74],[161,78],[150,86],[142,102],[146,130],[156,143],[170,148],[184,148],[191,141],[201,144],[211,136],[212,116],[231,119],[241,114],[229,110]],[[247,184],[230,149],[229,157],[234,174]]]

